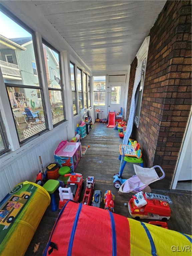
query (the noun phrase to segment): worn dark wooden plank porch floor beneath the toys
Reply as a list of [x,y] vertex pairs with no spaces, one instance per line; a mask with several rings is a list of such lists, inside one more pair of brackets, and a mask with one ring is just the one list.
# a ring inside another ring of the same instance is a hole
[[[124,207],[124,203],[128,202],[132,197],[132,194],[126,196],[119,195],[117,193],[118,190],[113,186],[112,178],[113,174],[119,171],[120,161],[118,160],[118,156],[119,144],[121,142],[122,139],[119,138],[116,130],[106,128],[106,125],[103,125],[102,123],[94,124],[89,135],[82,141],[82,145],[90,145],[90,148],[88,148],[86,154],[82,156],[76,168],[76,172],[82,173],[84,179],[89,175],[94,176],[95,189],[101,190],[102,195],[104,195],[107,189],[110,189],[115,195],[115,213],[130,217],[128,208]],[[123,177],[129,178],[134,174],[133,165],[127,163]],[[176,190],[153,190],[153,192],[169,195],[173,201],[173,205],[171,205],[171,218],[167,221],[169,229],[185,234],[191,234],[191,193]],[[56,196],[59,201],[58,193]],[[81,200],[82,198],[83,192],[81,193]],[[104,205],[102,205],[102,208],[104,208]],[[34,255],[34,245],[39,242],[40,246],[35,255],[42,255],[58,214],[59,210],[52,212],[50,206],[47,208],[25,256]],[[146,220],[145,222],[148,221],[149,220]]]

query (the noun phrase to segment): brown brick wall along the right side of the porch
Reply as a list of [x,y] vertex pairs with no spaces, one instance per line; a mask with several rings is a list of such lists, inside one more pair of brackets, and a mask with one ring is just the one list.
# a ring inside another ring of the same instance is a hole
[[[149,33],[150,43],[139,127],[133,137],[146,166],[161,165],[166,178],[153,184],[170,188],[191,109],[191,1],[167,1]],[[134,83],[131,64],[128,92]]]

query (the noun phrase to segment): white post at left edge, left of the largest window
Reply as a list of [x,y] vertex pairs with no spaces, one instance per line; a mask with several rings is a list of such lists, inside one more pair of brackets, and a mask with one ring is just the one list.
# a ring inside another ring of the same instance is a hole
[[7,90],[5,87],[5,83],[3,80],[3,75],[1,73],[0,69],[0,111],[1,111],[1,116],[3,119],[3,123],[5,126],[6,134],[7,134],[7,139],[10,145],[10,149],[12,151],[17,150],[20,148],[19,145],[19,139],[17,136],[16,128],[15,128],[15,122],[13,119],[13,114],[11,111],[10,103],[9,103],[9,97],[7,94]]

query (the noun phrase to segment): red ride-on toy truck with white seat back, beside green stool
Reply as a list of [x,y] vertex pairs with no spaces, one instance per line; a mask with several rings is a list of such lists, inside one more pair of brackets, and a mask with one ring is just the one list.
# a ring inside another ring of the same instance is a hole
[[64,177],[68,177],[68,176],[69,176],[69,179],[67,181],[66,187],[59,188],[59,196],[60,196],[59,209],[60,210],[63,208],[63,206],[69,199],[77,202],[80,196],[80,192],[84,187],[84,180],[83,180],[82,174],[69,173],[64,175]]

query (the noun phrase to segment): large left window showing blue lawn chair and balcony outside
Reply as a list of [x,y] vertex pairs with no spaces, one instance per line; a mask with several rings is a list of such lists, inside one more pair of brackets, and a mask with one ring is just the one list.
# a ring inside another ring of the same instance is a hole
[[[0,68],[7,88],[19,142],[47,129],[34,32],[0,12]],[[2,135],[1,135],[1,140]],[[2,148],[1,142],[1,148]]]

